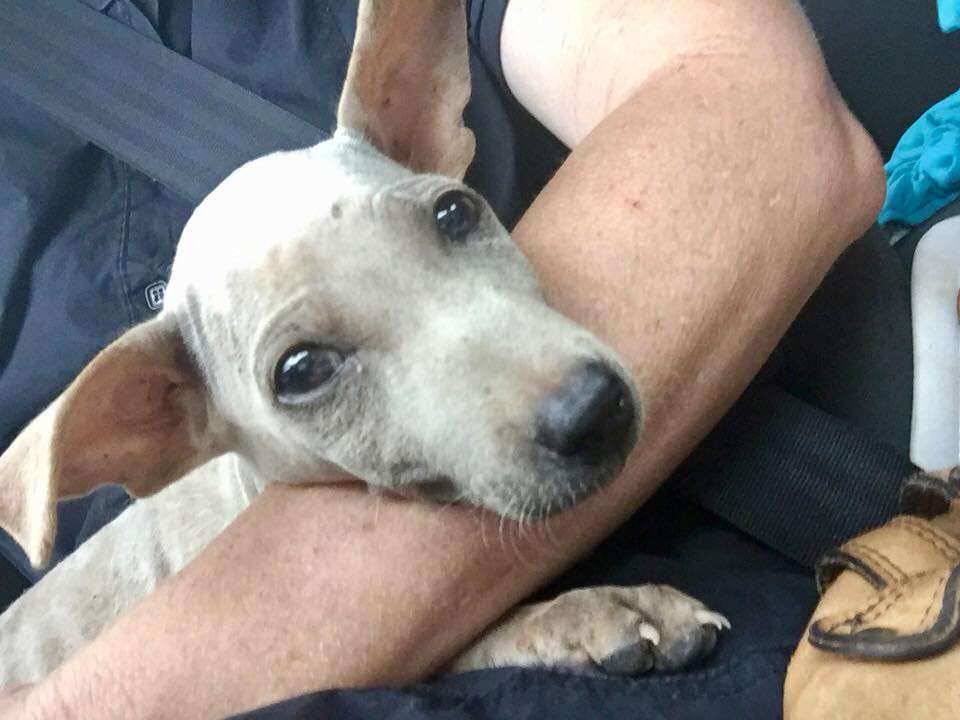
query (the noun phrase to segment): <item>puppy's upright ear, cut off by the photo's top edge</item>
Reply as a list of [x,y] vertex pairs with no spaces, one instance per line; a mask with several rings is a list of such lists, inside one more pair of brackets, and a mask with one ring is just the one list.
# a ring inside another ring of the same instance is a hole
[[462,0],[361,0],[338,123],[415,172],[460,179],[470,59]]

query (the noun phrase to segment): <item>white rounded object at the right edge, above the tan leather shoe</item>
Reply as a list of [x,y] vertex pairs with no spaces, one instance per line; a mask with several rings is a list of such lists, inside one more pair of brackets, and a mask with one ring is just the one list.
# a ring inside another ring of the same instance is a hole
[[960,217],[937,223],[913,258],[913,423],[910,459],[960,465]]

